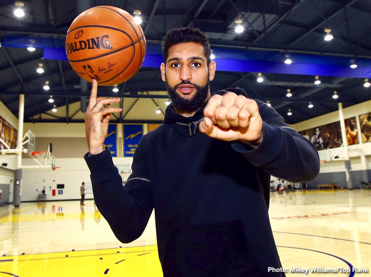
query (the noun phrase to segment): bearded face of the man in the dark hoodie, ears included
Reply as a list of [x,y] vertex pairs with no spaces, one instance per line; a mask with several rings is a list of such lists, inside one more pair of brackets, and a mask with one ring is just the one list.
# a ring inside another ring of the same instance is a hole
[[202,44],[184,42],[171,46],[161,64],[169,98],[176,109],[194,112],[210,97],[209,81],[214,79],[215,62],[207,66]]

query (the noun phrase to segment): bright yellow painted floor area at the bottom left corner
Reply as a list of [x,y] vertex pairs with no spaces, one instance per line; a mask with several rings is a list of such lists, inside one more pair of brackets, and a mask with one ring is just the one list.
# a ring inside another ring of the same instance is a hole
[[18,255],[1,260],[1,277],[162,276],[156,245]]

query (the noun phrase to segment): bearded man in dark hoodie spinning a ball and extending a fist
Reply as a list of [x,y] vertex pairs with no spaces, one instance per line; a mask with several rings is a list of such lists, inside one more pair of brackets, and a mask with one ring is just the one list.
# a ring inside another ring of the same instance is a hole
[[97,98],[85,113],[96,206],[123,243],[137,239],[155,211],[164,277],[282,277],[270,227],[270,174],[292,181],[319,172],[313,144],[273,108],[239,88],[211,95],[216,63],[198,29],[170,30],[161,78],[171,99],[164,124],[145,134],[125,185],[104,146],[118,98]]

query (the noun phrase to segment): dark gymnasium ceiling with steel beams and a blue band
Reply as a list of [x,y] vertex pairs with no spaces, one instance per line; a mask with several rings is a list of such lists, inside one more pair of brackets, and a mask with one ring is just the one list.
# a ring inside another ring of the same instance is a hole
[[[287,123],[336,111],[338,102],[347,107],[371,99],[371,87],[363,86],[365,78],[371,79],[370,0],[24,0],[22,18],[14,16],[14,2],[0,0],[0,101],[18,118],[19,95],[24,94],[24,122],[83,122],[81,103],[86,103],[90,84],[81,81],[68,61],[45,58],[45,51],[63,50],[72,20],[101,5],[131,14],[141,10],[151,54],[161,54],[166,30],[199,27],[210,37],[216,56],[211,92],[244,88],[250,98],[270,101]],[[241,34],[234,32],[239,18]],[[324,40],[325,28],[334,39]],[[29,44],[34,52],[26,50]],[[286,55],[291,65],[283,63]],[[349,68],[353,60],[355,69]],[[39,63],[45,69],[42,74],[36,72]],[[261,83],[256,81],[259,72]],[[321,84],[313,83],[315,75]],[[43,89],[45,81],[50,90]],[[112,122],[162,121],[166,92],[159,67],[142,66],[118,89],[113,93],[112,87],[99,87],[99,95],[123,99],[123,111]],[[57,112],[51,111],[50,95]],[[155,113],[157,106],[162,113]]]

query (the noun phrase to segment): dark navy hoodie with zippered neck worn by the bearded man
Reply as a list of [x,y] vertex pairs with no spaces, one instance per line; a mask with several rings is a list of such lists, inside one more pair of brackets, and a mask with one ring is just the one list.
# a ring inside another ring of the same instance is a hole
[[164,124],[139,142],[125,186],[108,149],[85,155],[95,203],[121,242],[143,233],[154,208],[164,276],[285,276],[269,271],[281,267],[268,217],[270,174],[308,181],[319,157],[273,108],[256,102],[263,119],[256,149],[198,131],[203,107],[187,118],[170,104]]

